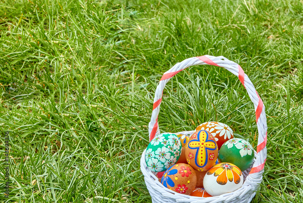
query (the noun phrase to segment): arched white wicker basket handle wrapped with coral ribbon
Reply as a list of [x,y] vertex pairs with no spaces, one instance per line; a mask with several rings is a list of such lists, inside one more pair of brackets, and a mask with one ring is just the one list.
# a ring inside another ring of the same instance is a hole
[[267,124],[266,124],[266,115],[265,115],[265,106],[263,101],[259,97],[254,85],[249,80],[248,76],[244,73],[243,69],[237,63],[228,60],[223,56],[199,56],[199,57],[191,57],[185,59],[184,61],[175,64],[171,69],[166,71],[160,79],[159,85],[156,88],[153,110],[151,114],[151,121],[148,124],[148,133],[149,133],[149,141],[151,141],[156,135],[160,134],[159,126],[158,126],[158,115],[160,110],[160,104],[162,101],[163,89],[166,83],[177,73],[184,70],[187,67],[193,65],[214,65],[219,67],[224,67],[226,70],[230,71],[232,74],[239,77],[239,80],[247,90],[247,93],[254,103],[255,112],[256,112],[256,122],[258,127],[258,146],[257,146],[257,156],[256,162],[253,165],[250,173],[260,172],[264,168],[267,149]]

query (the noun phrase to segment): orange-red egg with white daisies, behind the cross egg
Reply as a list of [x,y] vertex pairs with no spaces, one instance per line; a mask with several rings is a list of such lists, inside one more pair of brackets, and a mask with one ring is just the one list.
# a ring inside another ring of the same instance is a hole
[[232,132],[231,128],[224,123],[215,121],[205,122],[196,127],[195,132],[199,130],[206,130],[210,132],[211,135],[214,136],[219,150],[224,142],[234,138],[234,133]]

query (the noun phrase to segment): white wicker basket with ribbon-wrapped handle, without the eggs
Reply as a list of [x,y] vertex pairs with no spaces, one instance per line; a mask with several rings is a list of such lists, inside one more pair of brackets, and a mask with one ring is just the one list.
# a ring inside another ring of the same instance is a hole
[[[192,57],[185,59],[184,61],[175,64],[171,69],[169,69],[160,79],[159,85],[156,89],[153,111],[151,115],[151,121],[149,123],[149,139],[153,139],[155,135],[160,134],[158,127],[158,114],[160,109],[160,104],[162,101],[162,94],[165,84],[176,75],[181,70],[193,65],[214,65],[219,67],[224,67],[231,73],[239,77],[239,80],[244,85],[247,93],[254,103],[256,112],[256,121],[258,126],[258,146],[257,151],[255,151],[255,160],[249,169],[243,172],[244,183],[235,192],[226,193],[215,197],[194,197],[189,195],[183,195],[176,193],[174,191],[165,188],[155,176],[154,172],[151,172],[145,163],[145,151],[142,153],[141,157],[141,171],[144,175],[145,183],[153,203],[172,203],[172,202],[195,202],[195,203],[218,203],[218,202],[250,202],[255,196],[256,190],[262,181],[262,174],[264,172],[264,164],[266,161],[266,141],[267,141],[267,124],[265,116],[265,106],[259,97],[254,85],[249,80],[248,76],[244,74],[244,71],[240,65],[233,61],[229,61],[223,56],[214,57],[209,55],[204,55],[200,57]],[[183,131],[180,133],[192,134],[194,131]]]

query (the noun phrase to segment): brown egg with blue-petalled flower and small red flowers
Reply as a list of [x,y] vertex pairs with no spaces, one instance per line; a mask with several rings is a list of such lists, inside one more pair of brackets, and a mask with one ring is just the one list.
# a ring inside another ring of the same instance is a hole
[[161,183],[172,191],[190,195],[195,189],[197,176],[190,165],[180,163],[172,165],[165,171]]

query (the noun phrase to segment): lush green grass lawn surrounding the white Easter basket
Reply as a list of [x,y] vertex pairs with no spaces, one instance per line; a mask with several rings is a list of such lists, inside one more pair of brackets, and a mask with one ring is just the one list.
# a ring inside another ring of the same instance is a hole
[[[302,202],[302,25],[299,0],[2,1],[0,202],[151,202],[139,160],[155,88],[172,65],[205,54],[240,64],[265,104],[268,157],[252,202]],[[160,131],[220,121],[256,149],[245,91],[224,68],[180,72]]]

